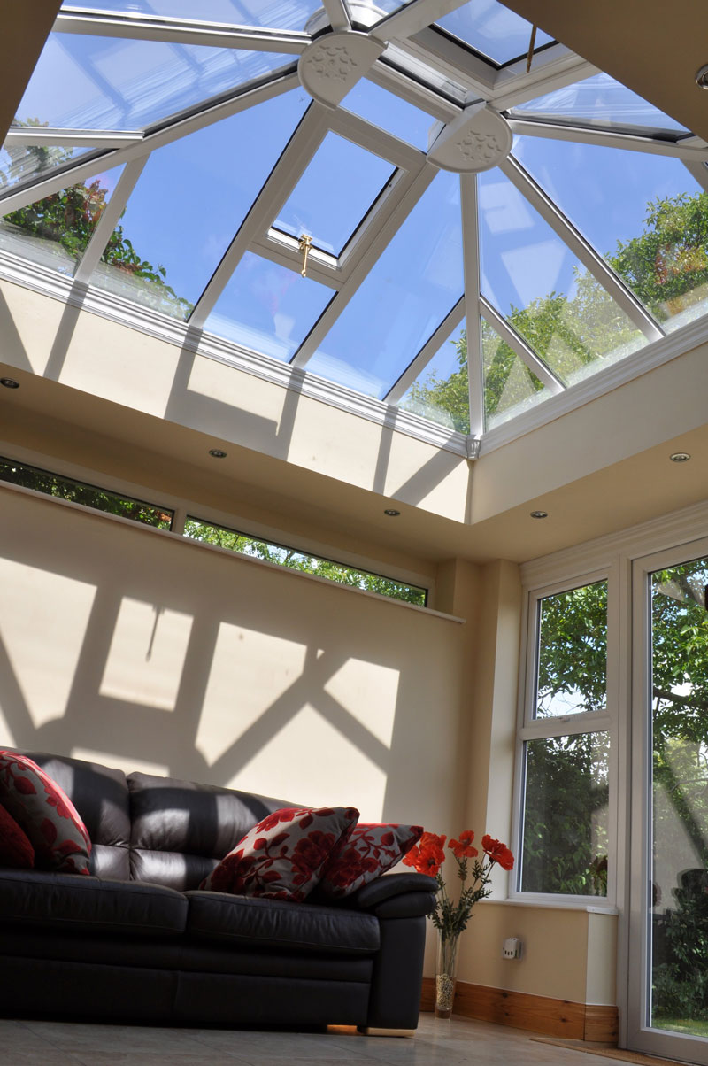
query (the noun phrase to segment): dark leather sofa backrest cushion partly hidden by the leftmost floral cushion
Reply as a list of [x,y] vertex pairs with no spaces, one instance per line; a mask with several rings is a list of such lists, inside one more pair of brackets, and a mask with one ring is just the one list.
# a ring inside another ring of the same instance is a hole
[[130,813],[123,771],[47,752],[22,749],[20,754],[42,766],[79,812],[92,843],[91,873],[128,881]]

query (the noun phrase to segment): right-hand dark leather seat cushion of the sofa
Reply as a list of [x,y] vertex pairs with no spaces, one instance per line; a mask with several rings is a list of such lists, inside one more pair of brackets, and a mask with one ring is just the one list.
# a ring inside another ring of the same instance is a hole
[[379,919],[341,907],[318,907],[193,891],[189,900],[188,936],[262,948],[370,955],[379,950]]

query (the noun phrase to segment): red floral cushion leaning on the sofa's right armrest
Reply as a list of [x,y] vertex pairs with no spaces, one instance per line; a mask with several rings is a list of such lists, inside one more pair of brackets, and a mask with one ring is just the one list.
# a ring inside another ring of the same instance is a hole
[[422,835],[422,825],[374,825],[359,822],[332,853],[322,870],[318,893],[351,895],[361,885],[390,870]]

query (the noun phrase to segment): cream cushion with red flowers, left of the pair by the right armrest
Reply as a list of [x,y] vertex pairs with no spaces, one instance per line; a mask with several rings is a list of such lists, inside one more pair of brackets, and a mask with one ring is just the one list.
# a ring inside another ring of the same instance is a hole
[[255,825],[199,888],[302,903],[332,850],[358,820],[354,807],[284,807]]

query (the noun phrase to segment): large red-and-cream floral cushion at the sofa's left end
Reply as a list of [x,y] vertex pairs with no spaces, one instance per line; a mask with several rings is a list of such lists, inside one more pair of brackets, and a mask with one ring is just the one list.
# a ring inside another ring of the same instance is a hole
[[0,750],[0,803],[30,838],[37,867],[90,873],[86,827],[66,793],[36,762]]

